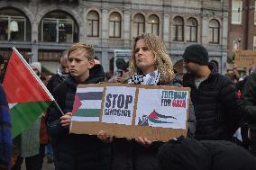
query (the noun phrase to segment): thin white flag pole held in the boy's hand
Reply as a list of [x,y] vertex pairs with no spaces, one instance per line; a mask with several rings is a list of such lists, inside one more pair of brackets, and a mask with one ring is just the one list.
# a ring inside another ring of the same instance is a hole
[[21,58],[21,60],[23,61],[23,63],[25,64],[26,67],[29,68],[30,72],[32,73],[32,76],[37,79],[37,81],[40,83],[41,87],[44,89],[44,91],[50,96],[50,99],[56,104],[56,106],[59,109],[59,112],[62,115],[65,115],[64,112],[62,112],[62,110],[59,107],[59,104],[56,102],[56,100],[53,98],[53,96],[50,94],[49,90],[46,88],[45,85],[43,85],[43,83],[41,82],[41,79],[39,78],[39,76],[37,76],[34,71],[32,70],[32,67],[30,67],[30,65],[27,63],[27,61],[23,58],[23,55],[16,49],[16,48],[12,48],[14,50],[14,52],[18,55],[19,58]]

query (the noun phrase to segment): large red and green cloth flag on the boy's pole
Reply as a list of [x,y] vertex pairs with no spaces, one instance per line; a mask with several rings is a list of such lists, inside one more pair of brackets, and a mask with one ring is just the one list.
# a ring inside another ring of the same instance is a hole
[[15,138],[28,130],[54,99],[23,56],[13,49],[3,87],[12,113],[12,135]]

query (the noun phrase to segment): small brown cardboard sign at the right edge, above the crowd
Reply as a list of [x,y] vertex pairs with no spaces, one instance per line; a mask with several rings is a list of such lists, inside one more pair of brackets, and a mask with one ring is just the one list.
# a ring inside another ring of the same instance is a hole
[[238,50],[235,52],[234,65],[236,67],[256,66],[256,50]]

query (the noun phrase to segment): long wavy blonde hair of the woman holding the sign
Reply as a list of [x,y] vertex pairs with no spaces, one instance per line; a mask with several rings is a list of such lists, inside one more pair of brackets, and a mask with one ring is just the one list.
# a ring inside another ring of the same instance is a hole
[[136,66],[135,48],[137,41],[142,39],[145,40],[147,48],[151,49],[154,54],[156,60],[155,67],[160,73],[160,85],[169,84],[175,76],[172,62],[163,40],[159,36],[151,33],[144,33],[134,39],[132,57],[130,58],[129,73],[125,79],[127,80],[133,76],[134,73],[141,71],[140,68]]

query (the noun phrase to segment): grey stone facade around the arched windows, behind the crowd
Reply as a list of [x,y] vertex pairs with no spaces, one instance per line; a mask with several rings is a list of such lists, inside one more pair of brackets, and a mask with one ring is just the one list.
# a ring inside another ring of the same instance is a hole
[[[8,41],[0,44],[0,50],[15,46],[32,53],[32,61],[39,59],[39,51],[69,49],[71,43],[41,42],[39,40],[39,24],[46,13],[62,11],[69,13],[78,24],[78,40],[95,45],[96,57],[100,58],[105,71],[110,68],[110,59],[114,57],[115,49],[131,49],[133,45],[133,17],[142,13],[147,22],[151,14],[160,19],[160,36],[163,38],[171,55],[173,63],[182,58],[184,49],[193,43],[201,43],[209,50],[210,59],[219,63],[219,71],[225,73],[227,58],[228,33],[228,1],[210,0],[79,0],[77,1],[0,1],[0,10],[14,7],[23,12],[31,22],[31,41]],[[87,37],[87,13],[95,10],[99,14],[99,37]],[[121,38],[109,38],[109,15],[117,12],[122,18]],[[197,42],[173,41],[173,18],[181,16],[186,22],[194,17],[198,23]],[[208,42],[208,25],[211,19],[220,23],[220,41],[217,44]],[[147,24],[146,24],[147,28]],[[229,42],[230,43],[230,42]],[[47,62],[43,62],[46,64]]]

